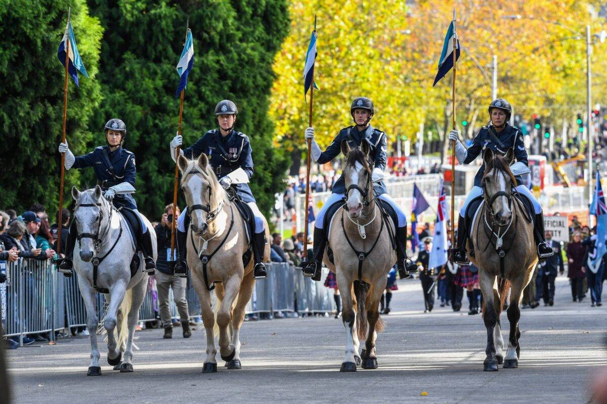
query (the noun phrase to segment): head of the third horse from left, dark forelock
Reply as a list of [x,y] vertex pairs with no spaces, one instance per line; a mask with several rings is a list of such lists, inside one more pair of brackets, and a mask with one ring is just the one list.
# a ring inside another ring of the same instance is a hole
[[361,217],[363,208],[373,202],[370,147],[366,141],[362,141],[361,147],[350,149],[348,143],[343,141],[341,149],[345,155],[345,209],[350,217]]

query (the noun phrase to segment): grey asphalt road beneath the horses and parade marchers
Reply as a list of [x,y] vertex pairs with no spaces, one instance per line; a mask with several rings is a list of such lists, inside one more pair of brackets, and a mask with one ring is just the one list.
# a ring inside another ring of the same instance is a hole
[[[344,326],[332,316],[246,322],[243,369],[226,370],[218,354],[216,374],[201,373],[203,330],[182,339],[176,328],[176,338],[163,340],[154,329],[137,333],[130,374],[106,365],[101,377],[87,377],[88,338],[8,351],[14,402],[571,404],[589,402],[589,377],[607,365],[607,310],[573,303],[565,277],[557,279],[553,307],[523,310],[519,368],[494,373],[482,371],[480,316],[438,304],[424,314],[419,281],[401,280],[399,288],[378,337],[376,370],[339,372]],[[101,360],[107,363],[103,351]]]

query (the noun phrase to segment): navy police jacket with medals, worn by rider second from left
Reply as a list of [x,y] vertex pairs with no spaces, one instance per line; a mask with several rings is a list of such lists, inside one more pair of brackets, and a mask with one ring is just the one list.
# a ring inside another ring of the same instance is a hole
[[[253,149],[246,134],[233,130],[223,137],[219,129],[209,130],[193,145],[183,150],[188,159],[197,159],[201,153],[209,157],[211,167],[220,179],[237,168],[245,170],[251,179],[253,176]],[[249,184],[232,184],[243,202],[255,202]]]

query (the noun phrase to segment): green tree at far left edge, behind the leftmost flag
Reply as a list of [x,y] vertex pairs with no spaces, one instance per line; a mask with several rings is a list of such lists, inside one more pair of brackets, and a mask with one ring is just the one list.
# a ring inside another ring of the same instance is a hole
[[[74,153],[90,139],[88,121],[100,102],[95,80],[103,30],[84,0],[0,2],[0,206],[19,213],[33,202],[54,214],[59,200],[64,68],[57,48],[72,7],[78,51],[90,79],[69,79],[67,137]],[[72,139],[74,140],[72,142]],[[77,139],[77,140],[76,140]],[[69,171],[66,188],[78,181]]]

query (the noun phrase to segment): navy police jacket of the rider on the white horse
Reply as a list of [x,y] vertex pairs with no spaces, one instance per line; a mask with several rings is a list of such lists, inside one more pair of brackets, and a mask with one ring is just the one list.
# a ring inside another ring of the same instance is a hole
[[[135,187],[135,154],[122,147],[111,151],[109,146],[100,146],[84,156],[75,158],[72,168],[93,167],[97,185],[104,191],[109,187],[128,182]],[[137,204],[132,194],[116,194],[112,199],[116,207],[127,207],[137,209]],[[63,241],[63,240],[62,240]]]

